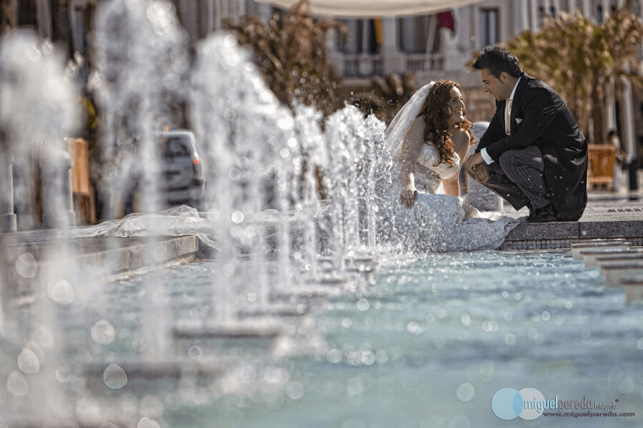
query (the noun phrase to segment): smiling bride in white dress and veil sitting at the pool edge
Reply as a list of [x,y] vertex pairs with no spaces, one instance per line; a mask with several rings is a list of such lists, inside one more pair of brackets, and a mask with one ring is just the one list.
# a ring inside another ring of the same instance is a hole
[[461,91],[453,81],[422,86],[385,133],[392,185],[384,228],[414,250],[497,248],[519,223],[459,198],[459,170],[474,144]]

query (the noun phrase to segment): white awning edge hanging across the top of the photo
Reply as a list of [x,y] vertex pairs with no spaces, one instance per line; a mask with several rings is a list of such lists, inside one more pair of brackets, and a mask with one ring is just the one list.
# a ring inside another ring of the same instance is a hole
[[[258,0],[288,9],[297,0]],[[381,18],[433,14],[481,0],[310,0],[311,13],[334,18]]]

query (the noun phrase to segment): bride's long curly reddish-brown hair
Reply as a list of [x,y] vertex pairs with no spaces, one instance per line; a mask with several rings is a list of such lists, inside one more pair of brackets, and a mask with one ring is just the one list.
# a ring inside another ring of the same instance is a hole
[[[449,165],[454,163],[455,146],[449,135],[448,122],[448,119],[453,114],[449,101],[451,100],[451,90],[454,87],[462,92],[462,87],[459,83],[449,80],[437,81],[429,91],[427,101],[418,115],[424,116],[424,122],[426,123],[424,141],[432,141],[440,153],[440,159],[434,166],[443,162],[449,163]],[[467,120],[467,108],[464,108],[464,121],[457,123],[456,126],[467,131],[469,145],[472,145],[474,143],[471,131],[473,124]]]

